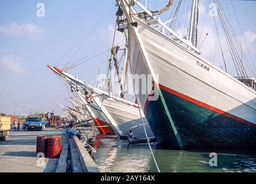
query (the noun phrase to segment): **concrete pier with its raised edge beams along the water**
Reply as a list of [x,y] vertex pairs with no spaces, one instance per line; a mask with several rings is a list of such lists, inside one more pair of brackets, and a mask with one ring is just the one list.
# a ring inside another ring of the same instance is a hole
[[37,158],[36,137],[61,135],[61,130],[46,129],[45,131],[10,131],[6,141],[0,141],[0,173],[66,173],[68,152],[71,155],[73,173],[100,172],[76,136],[62,136],[62,153],[60,158]]

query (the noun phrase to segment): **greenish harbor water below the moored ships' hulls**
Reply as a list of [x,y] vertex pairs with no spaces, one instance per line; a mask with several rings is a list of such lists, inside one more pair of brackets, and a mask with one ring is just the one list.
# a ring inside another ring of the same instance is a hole
[[[147,143],[129,144],[104,135],[94,136],[94,143],[101,172],[157,172]],[[156,143],[151,148],[161,172],[256,172],[256,151],[169,150]],[[210,166],[212,152],[217,154],[217,166]]]

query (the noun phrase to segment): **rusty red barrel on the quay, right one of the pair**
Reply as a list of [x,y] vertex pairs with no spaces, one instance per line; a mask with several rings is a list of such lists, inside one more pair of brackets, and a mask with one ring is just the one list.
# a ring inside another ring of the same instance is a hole
[[62,136],[51,136],[47,139],[47,158],[59,158],[62,152]]

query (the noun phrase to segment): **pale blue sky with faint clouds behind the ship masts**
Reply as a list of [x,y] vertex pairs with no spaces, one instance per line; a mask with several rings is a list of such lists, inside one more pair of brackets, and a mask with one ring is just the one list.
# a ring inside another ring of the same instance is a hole
[[[45,17],[37,17],[37,3],[45,5]],[[151,9],[160,9],[168,1],[148,1]],[[221,1],[221,3],[224,1]],[[206,11],[207,1],[200,3]],[[58,64],[64,64],[77,51],[72,60],[81,59],[93,52],[107,50],[112,45],[114,23],[117,7],[115,1],[0,1],[0,112],[13,113],[14,102],[20,103],[17,112],[25,113],[36,110],[61,114],[55,102],[68,103],[66,87],[47,68],[58,61],[73,45],[75,45],[99,20],[93,33],[82,45],[72,49]],[[256,24],[254,24],[256,2],[234,1],[235,9],[242,25],[243,33],[250,51],[255,58]],[[225,6],[225,4],[223,4]],[[204,16],[201,13],[200,16]],[[231,17],[234,17],[231,15]],[[235,23],[235,19],[231,19]],[[210,21],[211,22],[211,21]],[[199,28],[200,27],[199,22]],[[207,32],[208,24],[202,33]],[[211,33],[211,32],[210,32]],[[205,34],[205,33],[204,33]],[[212,29],[212,34],[215,34]],[[238,35],[240,36],[240,35]],[[214,37],[214,36],[213,36]],[[215,35],[216,37],[216,35]],[[213,55],[212,41],[206,39],[203,56]],[[211,56],[211,60],[212,60]],[[216,56],[218,60],[218,56]],[[79,78],[90,81],[96,79],[98,68],[101,73],[106,71],[108,53],[104,53],[70,71]],[[210,60],[210,59],[209,59]],[[221,63],[216,62],[220,67]],[[60,66],[62,67],[62,66]],[[82,74],[82,75],[80,75]]]

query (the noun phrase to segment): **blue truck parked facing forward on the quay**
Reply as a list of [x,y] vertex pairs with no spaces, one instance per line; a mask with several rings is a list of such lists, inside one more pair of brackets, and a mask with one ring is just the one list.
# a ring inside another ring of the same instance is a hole
[[26,130],[27,131],[43,131],[47,118],[41,116],[29,116],[26,118]]

